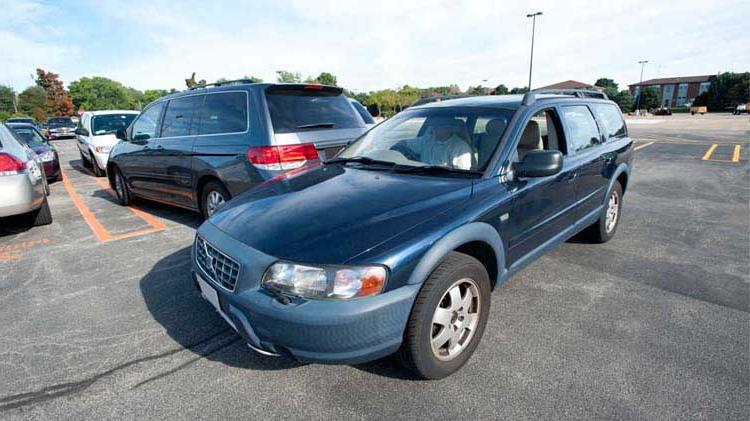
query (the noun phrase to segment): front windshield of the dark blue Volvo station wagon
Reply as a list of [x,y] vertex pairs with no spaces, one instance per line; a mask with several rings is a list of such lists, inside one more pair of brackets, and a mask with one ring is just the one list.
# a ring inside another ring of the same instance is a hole
[[335,159],[480,172],[513,113],[478,107],[406,110],[367,132]]

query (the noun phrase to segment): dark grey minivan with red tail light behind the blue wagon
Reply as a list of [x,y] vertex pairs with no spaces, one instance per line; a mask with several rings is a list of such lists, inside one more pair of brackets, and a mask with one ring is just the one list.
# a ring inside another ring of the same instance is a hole
[[[235,83],[235,84],[231,84]],[[367,131],[343,89],[223,82],[149,104],[107,162],[119,202],[133,195],[212,215],[266,180],[337,154]]]

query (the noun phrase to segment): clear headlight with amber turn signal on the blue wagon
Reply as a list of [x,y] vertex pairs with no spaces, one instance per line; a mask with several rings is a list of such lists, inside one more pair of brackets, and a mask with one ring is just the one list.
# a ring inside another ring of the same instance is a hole
[[379,294],[387,272],[382,266],[308,266],[276,262],[263,275],[263,287],[307,298],[348,299]]

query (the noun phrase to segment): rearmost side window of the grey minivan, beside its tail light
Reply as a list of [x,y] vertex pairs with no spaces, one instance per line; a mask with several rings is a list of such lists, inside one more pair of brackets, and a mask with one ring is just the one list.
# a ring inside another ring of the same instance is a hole
[[226,92],[206,95],[193,128],[198,134],[240,133],[247,130],[247,94]]

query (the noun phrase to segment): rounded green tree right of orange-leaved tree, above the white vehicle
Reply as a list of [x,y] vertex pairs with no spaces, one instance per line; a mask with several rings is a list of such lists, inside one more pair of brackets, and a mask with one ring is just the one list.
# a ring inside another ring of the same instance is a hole
[[[139,96],[142,95],[138,91]],[[82,77],[70,84],[70,97],[76,109],[86,111],[136,108],[137,98],[132,97],[120,82],[106,77]]]

